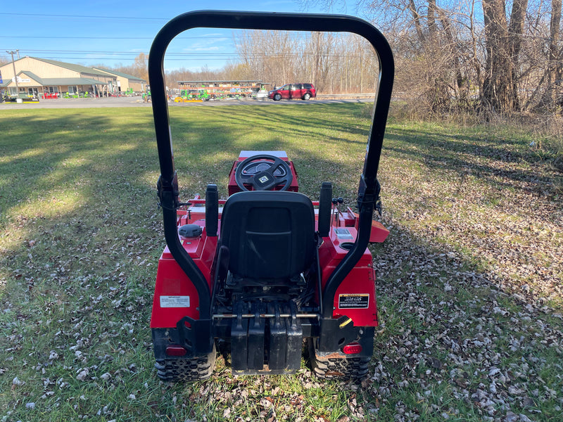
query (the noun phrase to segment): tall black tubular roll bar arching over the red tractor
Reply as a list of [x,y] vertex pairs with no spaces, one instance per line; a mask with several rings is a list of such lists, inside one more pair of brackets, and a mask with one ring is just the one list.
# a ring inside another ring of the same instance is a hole
[[163,206],[165,238],[172,256],[191,279],[199,295],[202,319],[210,319],[210,290],[205,276],[182,248],[177,236],[176,219],[172,210],[178,206],[178,186],[172,150],[172,136],[168,120],[167,96],[164,79],[165,51],[180,32],[196,27],[229,28],[241,30],[287,30],[315,32],[352,32],[369,41],[379,58],[379,85],[375,98],[372,128],[367,141],[367,153],[358,191],[358,237],[353,248],[341,261],[327,281],[322,300],[323,317],[331,318],[334,295],[343,279],[363,255],[369,241],[374,204],[379,194],[377,168],[385,134],[391,91],[393,89],[393,53],[387,40],[365,20],[345,15],[311,13],[261,13],[245,11],[194,11],[173,18],[156,35],[148,55],[148,80],[151,85],[153,117],[160,161],[159,196]]

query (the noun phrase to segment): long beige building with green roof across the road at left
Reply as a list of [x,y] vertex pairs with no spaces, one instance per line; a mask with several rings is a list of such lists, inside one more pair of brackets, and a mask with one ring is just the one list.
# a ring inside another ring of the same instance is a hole
[[[127,76],[134,80],[134,87],[144,82],[130,75],[116,75],[110,70],[97,70],[72,63],[25,56],[0,66],[0,89],[12,96],[19,94],[38,98],[84,96],[86,92],[90,95],[107,96],[129,89]],[[123,82],[124,80],[127,82]]]

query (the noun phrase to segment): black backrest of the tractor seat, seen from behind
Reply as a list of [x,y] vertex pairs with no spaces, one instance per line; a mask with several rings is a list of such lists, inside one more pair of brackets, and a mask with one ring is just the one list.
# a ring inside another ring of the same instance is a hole
[[234,193],[221,217],[222,246],[229,270],[248,279],[288,279],[308,269],[315,257],[315,211],[303,193]]

